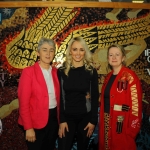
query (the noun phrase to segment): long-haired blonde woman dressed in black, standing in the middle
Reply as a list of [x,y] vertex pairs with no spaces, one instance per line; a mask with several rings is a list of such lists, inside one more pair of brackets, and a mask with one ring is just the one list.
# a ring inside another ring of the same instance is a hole
[[83,38],[70,41],[58,78],[61,83],[58,150],[71,150],[75,134],[77,149],[86,150],[98,120],[99,90],[97,71]]

